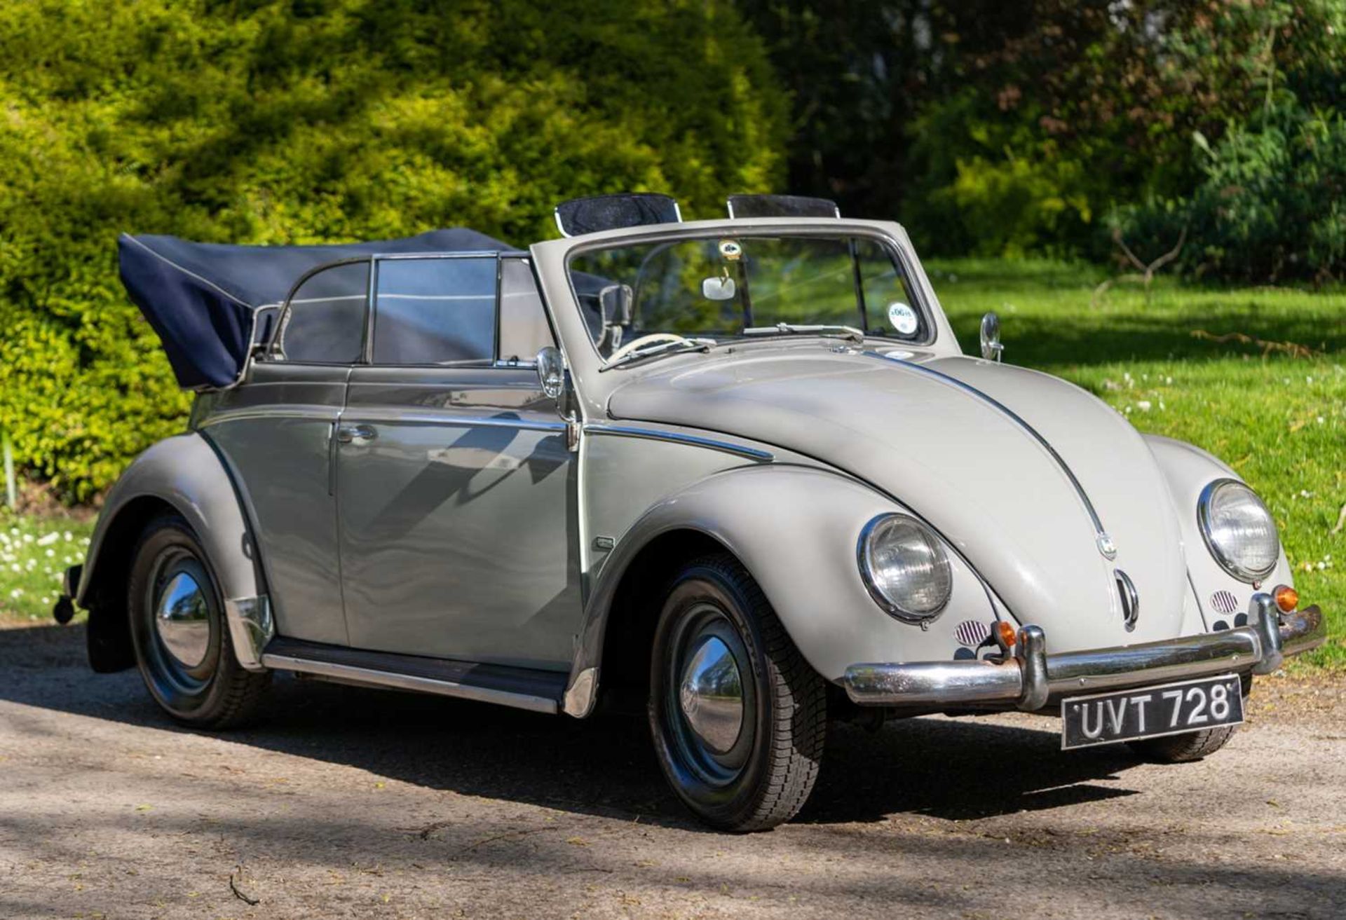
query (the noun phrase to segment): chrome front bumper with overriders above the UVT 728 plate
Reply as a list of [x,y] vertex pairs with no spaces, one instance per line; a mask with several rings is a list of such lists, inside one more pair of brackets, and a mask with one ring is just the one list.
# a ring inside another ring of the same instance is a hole
[[1259,592],[1249,603],[1248,625],[1237,629],[1050,655],[1043,628],[1026,625],[1012,652],[999,660],[852,664],[841,686],[864,706],[1035,712],[1085,693],[1232,671],[1269,674],[1326,636],[1316,605],[1283,613],[1271,595]]

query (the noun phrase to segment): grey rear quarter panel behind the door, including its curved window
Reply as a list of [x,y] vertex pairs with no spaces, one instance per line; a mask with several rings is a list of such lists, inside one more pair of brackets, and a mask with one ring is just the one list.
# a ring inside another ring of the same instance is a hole
[[367,325],[367,258],[300,281],[242,383],[201,397],[194,418],[230,465],[254,525],[277,632],[346,644],[336,543],[334,429]]

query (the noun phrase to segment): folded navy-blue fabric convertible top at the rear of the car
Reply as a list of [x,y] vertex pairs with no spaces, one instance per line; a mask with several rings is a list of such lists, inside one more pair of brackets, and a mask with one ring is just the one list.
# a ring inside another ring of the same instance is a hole
[[513,249],[466,227],[332,246],[227,246],[128,234],[117,241],[121,284],[159,334],[178,385],[186,390],[237,383],[252,347],[254,312],[284,303],[310,269],[385,253]]

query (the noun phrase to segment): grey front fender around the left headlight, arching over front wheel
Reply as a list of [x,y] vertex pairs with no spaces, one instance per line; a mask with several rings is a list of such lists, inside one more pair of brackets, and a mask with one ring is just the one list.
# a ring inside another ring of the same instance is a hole
[[989,596],[950,553],[953,596],[929,628],[883,612],[860,578],[856,551],[865,523],[894,511],[906,508],[855,479],[783,464],[728,469],[665,496],[618,541],[590,592],[567,712],[583,716],[592,706],[623,574],[643,547],[676,530],[703,534],[734,553],[804,658],[829,681],[857,662],[952,660],[961,648],[958,623],[989,625],[996,619]]

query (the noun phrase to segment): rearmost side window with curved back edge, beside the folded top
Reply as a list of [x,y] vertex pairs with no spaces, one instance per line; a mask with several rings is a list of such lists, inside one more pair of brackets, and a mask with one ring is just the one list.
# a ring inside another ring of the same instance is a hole
[[332,265],[289,297],[271,347],[273,360],[354,365],[365,344],[369,262]]

